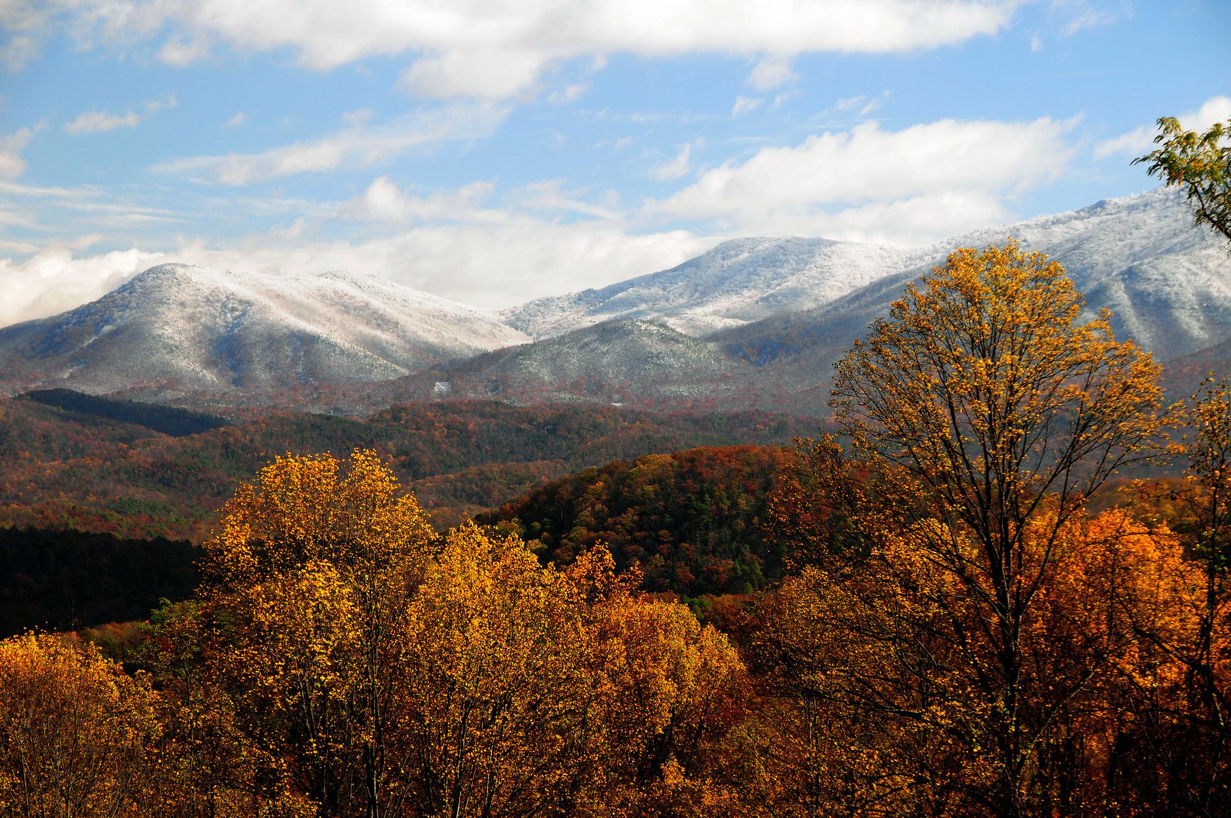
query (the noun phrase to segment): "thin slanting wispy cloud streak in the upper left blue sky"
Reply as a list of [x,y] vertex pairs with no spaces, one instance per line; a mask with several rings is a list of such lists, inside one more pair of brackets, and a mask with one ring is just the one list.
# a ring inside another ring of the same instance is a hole
[[407,150],[431,150],[444,142],[490,136],[507,113],[507,107],[497,105],[452,103],[420,110],[378,127],[369,126],[366,116],[351,115],[346,128],[316,139],[255,154],[190,156],[155,165],[154,170],[188,174],[222,185],[252,185],[343,166],[368,168]]

